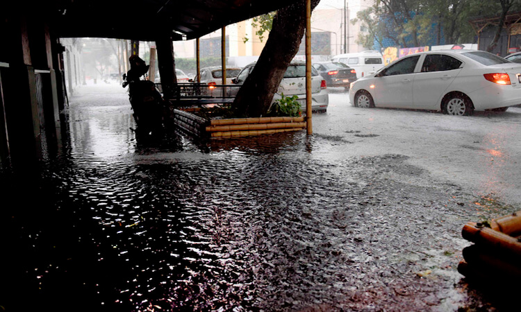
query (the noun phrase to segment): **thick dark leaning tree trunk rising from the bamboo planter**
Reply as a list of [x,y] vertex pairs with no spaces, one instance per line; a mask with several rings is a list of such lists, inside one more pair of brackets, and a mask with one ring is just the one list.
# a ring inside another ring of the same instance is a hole
[[[311,0],[311,10],[319,2]],[[267,112],[288,65],[299,51],[305,28],[305,0],[277,11],[261,56],[233,101],[237,114],[253,117]]]

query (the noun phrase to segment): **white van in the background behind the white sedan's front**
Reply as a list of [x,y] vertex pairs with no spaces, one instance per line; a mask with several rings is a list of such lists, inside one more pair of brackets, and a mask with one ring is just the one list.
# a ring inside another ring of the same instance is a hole
[[362,78],[383,67],[383,56],[379,51],[362,51],[333,56],[332,62],[341,62],[356,71],[356,78]]

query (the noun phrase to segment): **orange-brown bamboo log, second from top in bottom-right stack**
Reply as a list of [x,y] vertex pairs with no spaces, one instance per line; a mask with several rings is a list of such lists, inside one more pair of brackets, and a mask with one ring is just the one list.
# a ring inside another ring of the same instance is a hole
[[472,241],[472,243],[496,247],[499,250],[511,252],[521,257],[521,242],[512,236],[497,232],[489,227],[477,227],[477,223],[469,222],[463,226],[461,234],[463,239]]

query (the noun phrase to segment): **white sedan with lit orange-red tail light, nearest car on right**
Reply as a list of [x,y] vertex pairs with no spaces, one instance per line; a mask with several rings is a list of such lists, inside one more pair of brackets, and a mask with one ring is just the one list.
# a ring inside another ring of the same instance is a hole
[[470,115],[521,104],[521,64],[485,51],[429,51],[399,58],[351,84],[357,107]]

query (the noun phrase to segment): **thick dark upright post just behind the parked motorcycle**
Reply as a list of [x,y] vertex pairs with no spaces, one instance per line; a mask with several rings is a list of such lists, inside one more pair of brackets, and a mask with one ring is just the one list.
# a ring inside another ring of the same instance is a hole
[[159,75],[161,76],[161,87],[163,87],[163,96],[166,99],[172,99],[176,96],[175,89],[177,85],[172,35],[169,33],[159,35],[156,40],[156,48],[158,52],[158,67]]

